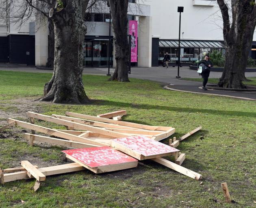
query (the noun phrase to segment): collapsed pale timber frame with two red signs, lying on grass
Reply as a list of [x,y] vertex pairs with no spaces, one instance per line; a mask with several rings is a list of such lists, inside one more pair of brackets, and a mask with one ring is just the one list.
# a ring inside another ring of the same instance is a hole
[[[180,141],[200,130],[201,127],[185,134],[179,140],[174,137],[169,140],[169,145],[165,145],[159,141],[174,134],[175,128],[149,126],[114,119],[126,115],[126,111],[116,111],[97,117],[72,112],[66,112],[65,116],[55,114],[47,116],[33,112],[28,112],[27,115],[30,123],[9,118],[7,120],[9,124],[0,128],[0,132],[12,126],[30,129],[31,134],[24,134],[30,145],[38,141],[69,147],[71,150],[62,152],[75,163],[38,168],[24,160],[21,162],[21,167],[0,169],[0,183],[2,184],[14,180],[36,178],[34,189],[37,191],[40,183],[46,180],[46,176],[84,169],[89,169],[94,173],[117,171],[137,167],[138,160],[146,159],[154,160],[156,163],[196,180],[202,178],[202,175],[180,166],[185,159],[185,154],[180,154],[176,149]],[[35,125],[35,119],[61,124],[67,130]],[[44,133],[46,136],[38,135],[36,132]],[[163,156],[171,155],[174,156],[175,163],[163,158]]]

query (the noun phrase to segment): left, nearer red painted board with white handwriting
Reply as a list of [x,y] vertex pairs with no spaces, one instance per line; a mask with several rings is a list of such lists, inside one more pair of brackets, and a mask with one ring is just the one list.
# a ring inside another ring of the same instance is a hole
[[89,167],[100,167],[137,161],[135,158],[114,150],[111,147],[89,147],[75,150],[63,150],[62,152],[72,156]]

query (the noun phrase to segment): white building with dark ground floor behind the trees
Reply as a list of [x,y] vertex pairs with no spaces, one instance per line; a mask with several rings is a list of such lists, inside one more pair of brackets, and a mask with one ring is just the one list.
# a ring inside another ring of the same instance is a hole
[[[181,13],[181,61],[192,62],[200,55],[213,49],[223,50],[223,22],[216,0],[130,0],[130,20],[138,20],[138,63],[139,67],[158,66],[163,54],[168,52],[175,62],[178,58],[179,13]],[[87,17],[85,35],[85,66],[107,65],[109,33],[109,9],[93,11]],[[30,26],[30,27],[29,27]],[[35,32],[33,20],[20,30],[10,24],[8,18],[0,25],[0,61],[46,65],[48,54],[48,28]],[[34,41],[34,42],[33,42]],[[6,44],[8,43],[8,44]],[[111,56],[114,53],[111,30]],[[34,47],[34,48],[33,48]],[[256,59],[256,35],[250,56]],[[34,53],[35,52],[35,53]],[[28,61],[30,60],[30,61]],[[31,62],[34,60],[34,63]],[[112,57],[111,57],[112,61]],[[115,65],[115,60],[113,60]]]

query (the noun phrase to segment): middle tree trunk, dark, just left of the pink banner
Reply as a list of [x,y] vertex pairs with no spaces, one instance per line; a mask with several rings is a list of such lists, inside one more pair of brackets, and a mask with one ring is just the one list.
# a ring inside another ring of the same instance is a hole
[[128,78],[128,37],[127,37],[127,10],[128,0],[109,0],[115,33],[115,60],[116,68],[109,80],[130,82]]

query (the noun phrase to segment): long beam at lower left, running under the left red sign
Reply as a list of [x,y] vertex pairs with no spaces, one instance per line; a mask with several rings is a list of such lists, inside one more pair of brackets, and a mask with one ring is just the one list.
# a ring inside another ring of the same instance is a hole
[[[79,165],[77,163],[69,163],[69,164],[65,164],[65,165],[43,167],[43,168],[39,168],[38,170],[41,173],[43,173],[45,176],[52,176],[52,175],[56,175],[56,174],[81,171],[84,169],[85,169],[85,167],[82,167],[81,165]],[[27,171],[19,171],[19,172],[15,172],[15,173],[4,174],[4,182],[10,182],[10,181],[22,180],[22,179],[28,179]]]

